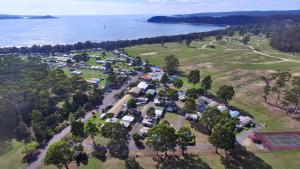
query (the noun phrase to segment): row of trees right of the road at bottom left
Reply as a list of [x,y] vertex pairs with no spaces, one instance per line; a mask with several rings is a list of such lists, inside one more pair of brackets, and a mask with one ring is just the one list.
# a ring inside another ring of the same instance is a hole
[[[96,118],[94,116],[94,118]],[[68,167],[68,163],[76,161],[77,165],[87,159],[83,151],[81,141],[87,136],[93,140],[92,155],[100,160],[105,160],[107,149],[111,157],[128,161],[128,140],[130,139],[128,130],[120,123],[106,123],[99,128],[92,120],[85,124],[80,121],[71,122],[72,138],[67,141],[58,141],[50,146],[46,153],[45,164],[53,164],[58,168]],[[107,145],[99,145],[95,142],[95,136],[101,134],[108,138]]]

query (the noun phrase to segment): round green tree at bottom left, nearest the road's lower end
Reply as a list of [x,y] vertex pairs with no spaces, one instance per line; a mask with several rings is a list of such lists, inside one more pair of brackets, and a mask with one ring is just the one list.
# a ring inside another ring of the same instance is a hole
[[72,157],[73,152],[70,145],[65,141],[58,141],[50,145],[46,153],[45,164],[53,164],[58,168],[64,166],[66,169],[69,169],[68,163],[72,161]]

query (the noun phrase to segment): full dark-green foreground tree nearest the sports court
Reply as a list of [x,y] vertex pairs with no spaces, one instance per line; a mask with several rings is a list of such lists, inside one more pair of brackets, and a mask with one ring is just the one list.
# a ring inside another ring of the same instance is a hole
[[236,140],[235,133],[235,119],[227,120],[225,123],[218,123],[213,128],[211,135],[209,136],[209,142],[216,147],[216,153],[218,148],[228,150],[234,147]]

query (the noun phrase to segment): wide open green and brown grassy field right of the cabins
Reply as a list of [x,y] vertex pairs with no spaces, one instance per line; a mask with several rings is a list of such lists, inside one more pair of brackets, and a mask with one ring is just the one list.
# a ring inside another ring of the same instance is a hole
[[[300,123],[297,119],[286,116],[286,113],[265,104],[262,99],[263,82],[260,77],[269,75],[276,70],[290,70],[295,74],[300,72],[299,54],[282,53],[270,47],[268,40],[263,36],[253,36],[250,45],[258,49],[265,56],[253,52],[248,46],[241,44],[235,38],[223,41],[213,41],[212,37],[203,41],[194,41],[190,48],[185,44],[166,43],[161,45],[139,45],[126,48],[133,56],[141,56],[150,63],[164,66],[164,58],[175,55],[180,61],[180,70],[184,75],[191,69],[200,69],[201,77],[211,75],[213,78],[212,93],[224,84],[235,87],[236,96],[231,102],[233,106],[249,112],[265,127],[265,131],[297,130]],[[214,43],[215,49],[208,49],[205,44]],[[273,57],[275,56],[275,57]],[[194,87],[187,82],[186,77],[183,89]],[[199,87],[196,85],[195,87]]]

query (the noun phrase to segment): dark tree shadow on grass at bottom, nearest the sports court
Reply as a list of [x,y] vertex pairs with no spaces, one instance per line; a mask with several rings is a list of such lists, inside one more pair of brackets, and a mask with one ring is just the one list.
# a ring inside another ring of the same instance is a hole
[[240,145],[222,157],[221,162],[225,169],[272,169],[263,159]]

